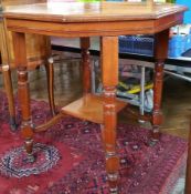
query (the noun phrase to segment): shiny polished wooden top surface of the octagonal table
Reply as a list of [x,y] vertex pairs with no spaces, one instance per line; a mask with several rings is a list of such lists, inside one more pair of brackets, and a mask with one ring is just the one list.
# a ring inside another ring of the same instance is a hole
[[182,12],[185,7],[147,2],[47,2],[7,7],[7,18],[41,21],[82,22],[149,20]]

